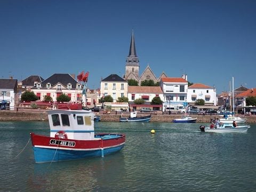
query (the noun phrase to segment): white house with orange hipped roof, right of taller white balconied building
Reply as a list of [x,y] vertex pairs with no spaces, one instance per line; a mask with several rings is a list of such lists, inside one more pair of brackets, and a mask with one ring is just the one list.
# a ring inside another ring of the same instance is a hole
[[197,99],[203,99],[205,101],[205,106],[216,106],[217,95],[215,88],[202,83],[195,83],[189,86],[187,102],[189,105],[195,105]]

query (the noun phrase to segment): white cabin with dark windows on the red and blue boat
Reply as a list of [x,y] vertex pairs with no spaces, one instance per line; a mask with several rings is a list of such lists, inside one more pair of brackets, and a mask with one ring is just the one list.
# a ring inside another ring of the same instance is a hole
[[47,111],[51,129],[50,137],[58,132],[66,139],[94,140],[94,113],[87,110],[54,109]]

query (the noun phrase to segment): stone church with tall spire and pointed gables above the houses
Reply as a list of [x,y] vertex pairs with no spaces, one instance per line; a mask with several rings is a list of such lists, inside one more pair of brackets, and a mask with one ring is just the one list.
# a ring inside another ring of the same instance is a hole
[[158,78],[155,76],[149,65],[146,67],[146,69],[143,71],[143,73],[139,74],[140,64],[139,64],[139,58],[136,54],[135,49],[135,41],[134,41],[134,34],[132,31],[132,37],[131,37],[131,44],[130,44],[130,50],[129,55],[126,59],[126,65],[125,65],[125,75],[124,79],[127,81],[128,79],[135,79],[139,82],[139,85],[142,81],[145,80],[153,80],[154,83],[160,82],[162,77],[167,77],[165,73],[163,72]]

